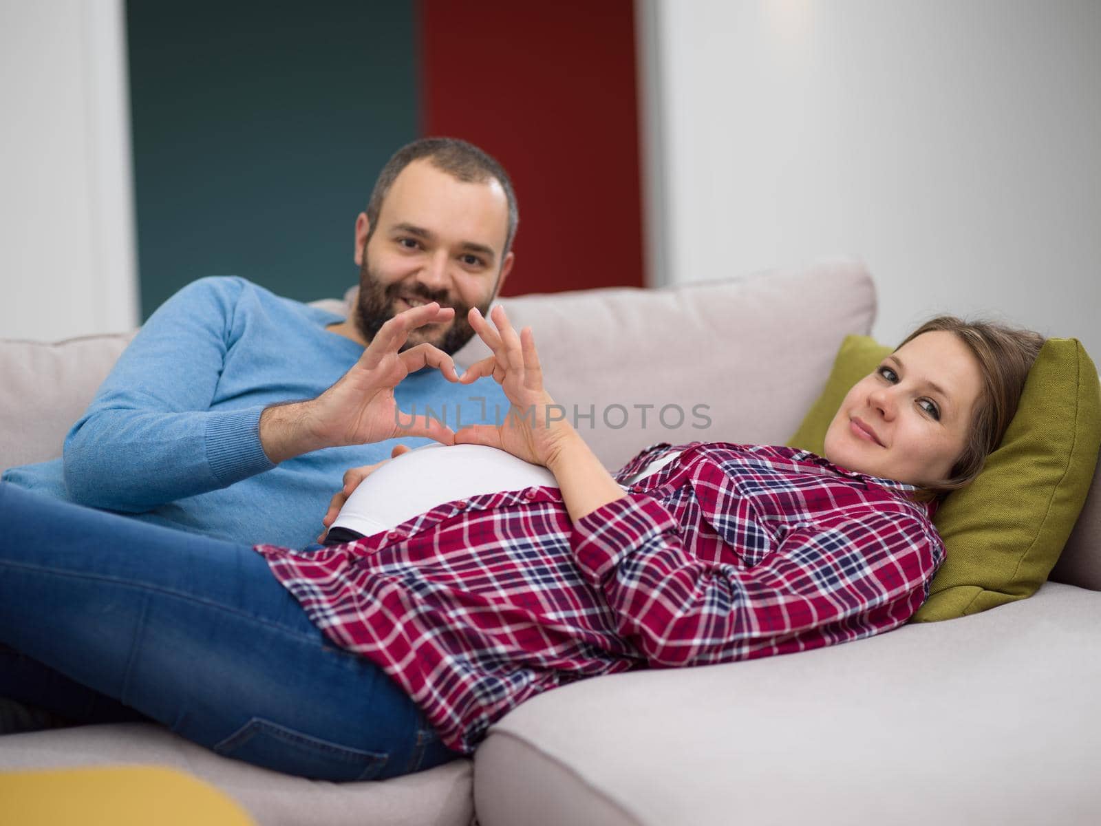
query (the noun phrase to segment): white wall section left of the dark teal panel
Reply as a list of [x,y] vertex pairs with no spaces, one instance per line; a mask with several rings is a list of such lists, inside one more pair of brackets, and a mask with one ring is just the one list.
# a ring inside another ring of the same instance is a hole
[[0,338],[138,322],[122,0],[0,0]]

